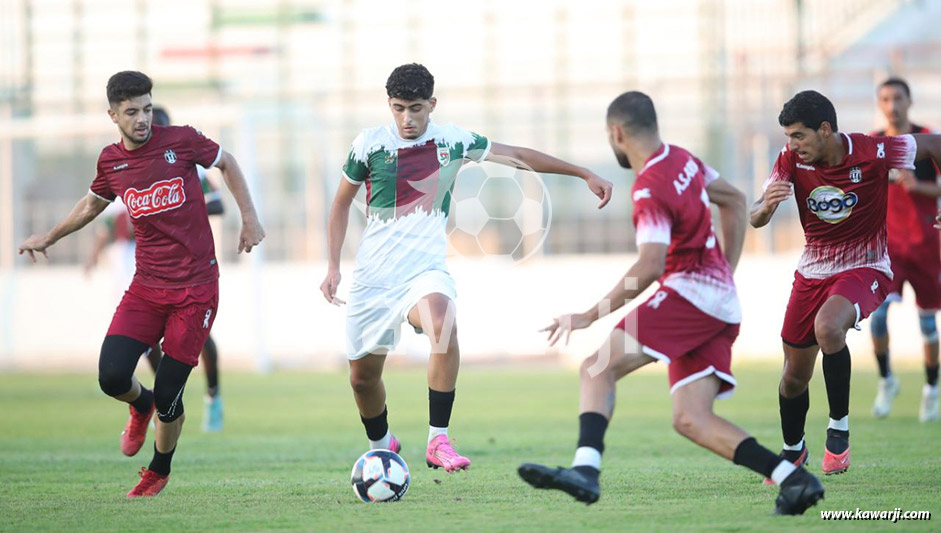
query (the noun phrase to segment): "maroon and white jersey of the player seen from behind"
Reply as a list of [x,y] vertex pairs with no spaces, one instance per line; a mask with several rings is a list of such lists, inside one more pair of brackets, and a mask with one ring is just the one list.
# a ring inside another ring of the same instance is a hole
[[637,245],[666,244],[660,284],[723,322],[742,321],[732,269],[716,240],[706,187],[719,173],[679,146],[664,144],[631,189]]

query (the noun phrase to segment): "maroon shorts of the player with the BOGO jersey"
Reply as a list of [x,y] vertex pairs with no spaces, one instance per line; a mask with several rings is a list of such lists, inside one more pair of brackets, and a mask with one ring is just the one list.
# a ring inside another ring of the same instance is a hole
[[854,268],[823,279],[809,279],[794,272],[791,298],[784,313],[781,339],[796,348],[817,344],[814,321],[817,311],[831,296],[839,294],[856,307],[856,323],[868,317],[885,301],[892,280],[878,270]]

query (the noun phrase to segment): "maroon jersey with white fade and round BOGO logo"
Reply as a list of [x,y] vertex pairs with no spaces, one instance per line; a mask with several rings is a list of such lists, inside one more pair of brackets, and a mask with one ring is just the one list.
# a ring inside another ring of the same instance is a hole
[[873,268],[891,278],[885,226],[889,170],[915,168],[915,139],[840,136],[846,154],[834,166],[804,164],[785,146],[765,187],[777,180],[794,184],[807,241],[797,266],[802,276],[822,279]]

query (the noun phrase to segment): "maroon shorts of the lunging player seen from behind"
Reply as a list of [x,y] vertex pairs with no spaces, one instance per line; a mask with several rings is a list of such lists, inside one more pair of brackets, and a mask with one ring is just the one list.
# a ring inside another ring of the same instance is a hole
[[637,339],[645,354],[669,365],[670,394],[715,374],[722,382],[717,398],[731,396],[732,343],[738,337],[738,324],[709,316],[673,289],[661,287],[616,327]]

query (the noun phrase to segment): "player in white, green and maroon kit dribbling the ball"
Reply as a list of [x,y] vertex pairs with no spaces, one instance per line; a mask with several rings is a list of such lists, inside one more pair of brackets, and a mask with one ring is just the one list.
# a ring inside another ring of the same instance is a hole
[[367,225],[356,256],[347,308],[350,384],[371,449],[398,452],[389,431],[382,370],[399,340],[402,322],[431,339],[428,362],[429,467],[463,470],[470,460],[448,438],[460,349],[454,280],[445,261],[445,227],[451,191],[466,160],[518,161],[536,172],[583,179],[603,207],[611,183],[590,170],[549,155],[498,143],[453,125],[431,121],[437,99],[434,77],[424,66],[397,67],[386,82],[393,122],[363,130],[343,167],[328,219],[329,267],[320,288],[328,302],[340,284],[340,251],[350,205],[366,184]]

